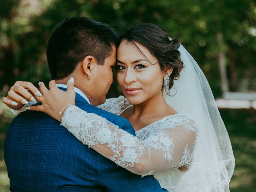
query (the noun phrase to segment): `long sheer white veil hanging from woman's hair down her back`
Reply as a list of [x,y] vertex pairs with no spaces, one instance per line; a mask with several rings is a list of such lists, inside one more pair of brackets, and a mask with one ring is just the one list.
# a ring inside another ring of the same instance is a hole
[[184,46],[178,50],[184,68],[166,102],[195,120],[199,139],[192,166],[182,176],[177,191],[229,192],[235,160],[228,132],[202,70]]

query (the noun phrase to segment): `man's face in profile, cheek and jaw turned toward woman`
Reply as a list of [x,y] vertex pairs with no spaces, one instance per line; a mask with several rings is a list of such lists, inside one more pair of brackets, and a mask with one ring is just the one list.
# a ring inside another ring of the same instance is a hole
[[[93,77],[93,88],[90,91],[91,104],[97,106],[106,101],[106,94],[113,83],[112,68],[116,64],[116,46],[113,46],[112,53],[105,59],[104,65],[96,65],[96,75]],[[89,96],[89,97],[90,97]]]

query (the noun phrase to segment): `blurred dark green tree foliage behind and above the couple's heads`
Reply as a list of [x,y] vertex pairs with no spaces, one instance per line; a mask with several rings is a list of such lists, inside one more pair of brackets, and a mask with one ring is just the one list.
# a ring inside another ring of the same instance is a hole
[[[179,38],[194,56],[218,96],[216,35],[224,36],[228,75],[255,78],[256,3],[253,0],[1,0],[0,91],[16,80],[48,81],[46,44],[54,26],[68,16],[89,16],[118,32],[152,22]],[[250,70],[248,70],[250,69]],[[249,71],[249,72],[248,72]],[[255,89],[255,87],[252,87]]]

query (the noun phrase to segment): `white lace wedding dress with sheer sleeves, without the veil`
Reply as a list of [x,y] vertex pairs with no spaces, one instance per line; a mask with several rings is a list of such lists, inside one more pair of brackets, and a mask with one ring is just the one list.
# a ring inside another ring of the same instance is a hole
[[[33,104],[30,102],[29,105]],[[120,115],[132,105],[124,98],[107,99],[99,108]],[[16,114],[22,112],[15,110]],[[142,176],[153,174],[162,188],[175,192],[189,170],[196,148],[196,123],[181,113],[166,116],[136,131],[136,137],[96,114],[69,106],[62,125],[78,140]],[[179,167],[184,167],[180,170]]]

